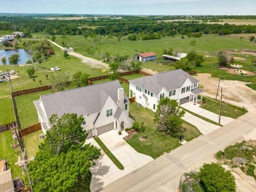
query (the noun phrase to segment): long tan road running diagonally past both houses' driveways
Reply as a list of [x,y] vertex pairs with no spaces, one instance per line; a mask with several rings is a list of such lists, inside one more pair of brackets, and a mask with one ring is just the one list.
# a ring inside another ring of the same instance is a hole
[[[213,154],[256,129],[256,110],[164,154],[101,191],[177,191],[183,172],[213,161]],[[247,137],[246,137],[247,138]]]

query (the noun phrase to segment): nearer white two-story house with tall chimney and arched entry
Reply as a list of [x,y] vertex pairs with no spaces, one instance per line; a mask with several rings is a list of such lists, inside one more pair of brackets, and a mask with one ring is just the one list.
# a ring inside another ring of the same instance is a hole
[[118,81],[111,81],[46,94],[34,101],[44,134],[51,129],[52,114],[83,115],[82,126],[88,138],[110,130],[123,131],[132,127],[129,117],[129,99]]

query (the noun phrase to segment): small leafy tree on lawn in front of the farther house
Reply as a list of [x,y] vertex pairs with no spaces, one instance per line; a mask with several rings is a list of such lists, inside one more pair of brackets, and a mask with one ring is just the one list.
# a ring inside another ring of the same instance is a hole
[[165,132],[165,136],[168,134],[175,136],[184,131],[181,119],[184,115],[185,111],[180,109],[175,100],[164,97],[157,105],[154,123],[158,124],[159,131]]

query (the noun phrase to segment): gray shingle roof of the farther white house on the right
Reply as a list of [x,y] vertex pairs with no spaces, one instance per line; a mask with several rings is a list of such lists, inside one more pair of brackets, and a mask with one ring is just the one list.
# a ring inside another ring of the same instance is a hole
[[167,91],[180,88],[188,78],[192,83],[199,82],[195,77],[189,75],[182,69],[158,73],[153,76],[140,77],[130,80],[129,82],[141,87],[142,89],[158,94],[163,87]]

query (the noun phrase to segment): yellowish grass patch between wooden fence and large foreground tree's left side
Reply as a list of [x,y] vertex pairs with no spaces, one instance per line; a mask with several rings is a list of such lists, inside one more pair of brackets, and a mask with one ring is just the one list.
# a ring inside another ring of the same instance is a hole
[[38,146],[44,139],[39,140],[39,134],[43,133],[42,130],[36,131],[23,137],[23,141],[26,148],[27,157],[35,156],[38,151]]

